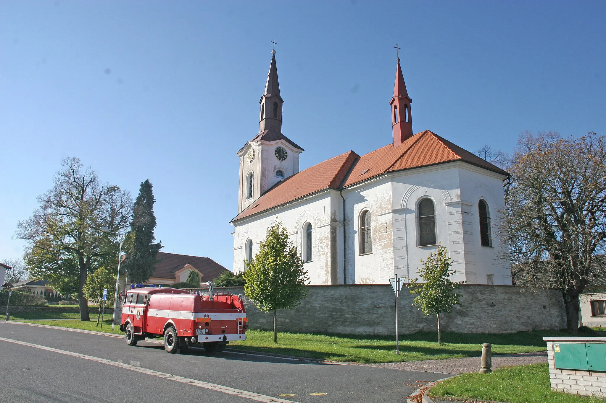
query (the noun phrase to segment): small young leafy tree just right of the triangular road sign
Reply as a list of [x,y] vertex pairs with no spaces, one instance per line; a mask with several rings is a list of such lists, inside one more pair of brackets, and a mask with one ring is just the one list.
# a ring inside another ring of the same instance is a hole
[[438,250],[431,252],[427,260],[418,269],[419,276],[424,283],[418,280],[410,279],[407,284],[408,291],[413,295],[418,295],[413,301],[414,306],[425,314],[425,317],[436,315],[438,317],[438,344],[442,343],[442,334],[440,332],[440,314],[442,312],[452,311],[453,305],[459,303],[460,294],[456,294],[454,289],[458,288],[463,282],[451,282],[455,270],[451,269],[452,259],[446,256],[448,248],[438,247]]

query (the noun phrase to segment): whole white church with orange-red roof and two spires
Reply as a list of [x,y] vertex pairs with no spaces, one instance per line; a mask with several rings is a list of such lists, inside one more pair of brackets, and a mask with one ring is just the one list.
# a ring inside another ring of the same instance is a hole
[[[238,151],[233,271],[259,250],[278,218],[301,251],[313,285],[381,284],[416,278],[420,260],[448,248],[453,281],[511,285],[506,245],[491,217],[504,206],[508,173],[439,135],[413,134],[399,59],[390,143],[349,151],[299,171],[303,149],[282,134],[275,52],[261,96],[259,134]],[[387,107],[387,105],[386,105]]]

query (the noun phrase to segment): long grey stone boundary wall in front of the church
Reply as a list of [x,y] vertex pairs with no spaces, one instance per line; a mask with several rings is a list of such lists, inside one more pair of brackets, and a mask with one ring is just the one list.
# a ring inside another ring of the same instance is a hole
[[[307,298],[291,310],[278,311],[281,332],[393,335],[395,295],[390,285],[311,285]],[[244,288],[216,288],[218,292],[244,294]],[[206,291],[208,292],[208,291]],[[566,327],[560,291],[531,291],[517,286],[462,285],[460,305],[440,317],[441,328],[461,333],[513,333],[527,330],[560,330]],[[401,334],[436,331],[436,317],[425,318],[407,289],[398,298]],[[273,317],[247,303],[251,329],[273,329]]]

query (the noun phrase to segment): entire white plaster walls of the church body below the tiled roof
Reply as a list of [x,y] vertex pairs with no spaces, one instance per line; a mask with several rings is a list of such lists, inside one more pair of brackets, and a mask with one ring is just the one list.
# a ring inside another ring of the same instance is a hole
[[[253,240],[255,254],[266,228],[277,216],[288,228],[300,253],[304,225],[307,222],[313,225],[313,261],[305,263],[312,285],[342,284],[344,274],[347,284],[384,284],[396,273],[417,279],[421,259],[427,259],[438,245],[447,247],[453,259],[452,267],[456,270],[453,281],[485,284],[486,274],[493,274],[495,285],[511,285],[509,262],[498,259],[496,252],[502,246],[494,236],[496,211],[504,204],[502,178],[484,171],[465,163],[441,164],[391,173],[356,185],[342,191],[345,220],[341,194],[335,190],[241,220],[235,225],[233,271],[244,270],[247,239]],[[430,198],[435,204],[437,243],[421,247],[416,210],[423,198]],[[482,247],[480,243],[480,198],[485,199],[490,209],[493,247]],[[359,224],[364,210],[371,213],[372,253],[361,255]]]

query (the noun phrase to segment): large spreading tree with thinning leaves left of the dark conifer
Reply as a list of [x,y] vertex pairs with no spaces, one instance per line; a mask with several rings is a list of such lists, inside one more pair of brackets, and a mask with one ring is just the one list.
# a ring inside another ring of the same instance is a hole
[[[90,167],[84,169],[78,158],[65,158],[53,187],[38,201],[40,207],[32,217],[19,221],[16,231],[19,239],[28,241],[25,259],[30,272],[37,272],[39,278],[54,285],[66,282],[64,288],[76,289],[80,320],[88,321],[83,291],[87,276],[118,254],[115,236],[99,228],[117,232],[127,227],[132,218],[132,198],[118,186],[101,182]],[[70,266],[66,269],[61,262]],[[56,289],[59,291],[59,287]]]

